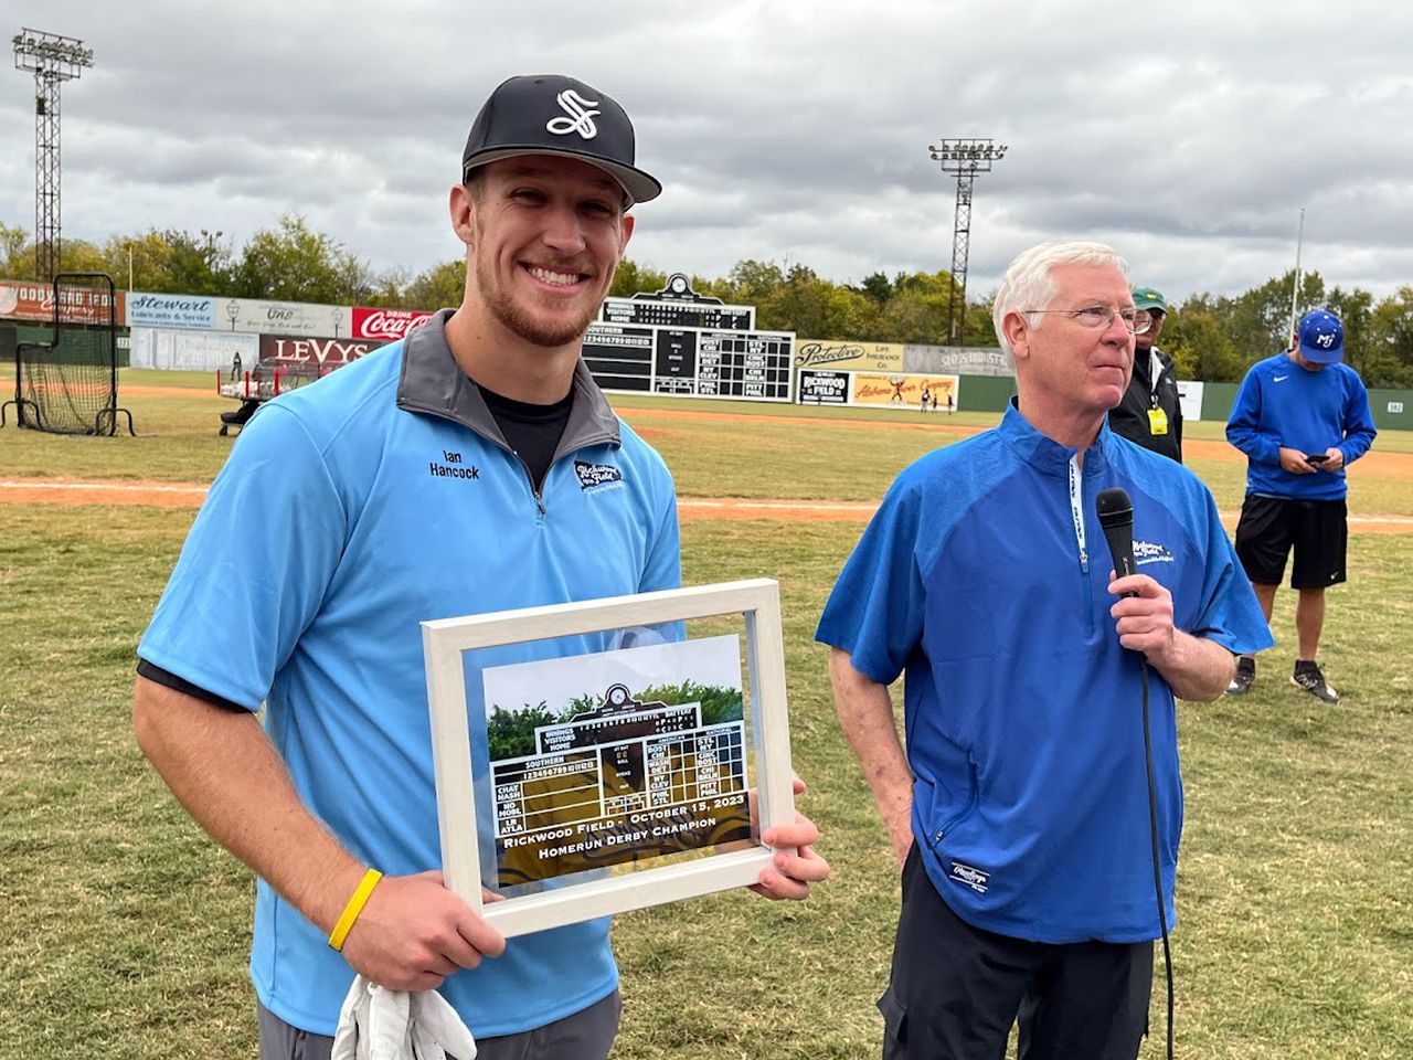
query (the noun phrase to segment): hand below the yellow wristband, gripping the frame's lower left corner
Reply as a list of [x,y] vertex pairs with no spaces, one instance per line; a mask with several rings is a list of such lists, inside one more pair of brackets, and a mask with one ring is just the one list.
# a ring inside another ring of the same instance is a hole
[[383,876],[343,943],[350,965],[380,987],[430,991],[506,940],[442,883],[441,872]]

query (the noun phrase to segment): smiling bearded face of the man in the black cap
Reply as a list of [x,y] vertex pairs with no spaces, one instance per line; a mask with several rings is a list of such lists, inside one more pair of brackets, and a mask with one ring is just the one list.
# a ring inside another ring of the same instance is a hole
[[461,202],[472,311],[536,346],[578,342],[633,232],[619,184],[575,158],[521,155],[482,167]]

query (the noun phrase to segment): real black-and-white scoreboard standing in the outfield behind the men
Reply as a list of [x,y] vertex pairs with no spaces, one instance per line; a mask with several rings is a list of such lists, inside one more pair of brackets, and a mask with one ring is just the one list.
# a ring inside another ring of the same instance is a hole
[[755,307],[697,294],[674,273],[660,291],[606,298],[584,360],[605,390],[791,401],[796,336],[755,322]]

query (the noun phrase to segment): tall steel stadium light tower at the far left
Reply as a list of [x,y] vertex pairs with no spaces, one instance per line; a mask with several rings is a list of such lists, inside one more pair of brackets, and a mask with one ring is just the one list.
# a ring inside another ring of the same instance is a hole
[[57,33],[20,30],[14,68],[34,71],[34,267],[48,283],[59,271],[59,85],[93,65],[93,49]]

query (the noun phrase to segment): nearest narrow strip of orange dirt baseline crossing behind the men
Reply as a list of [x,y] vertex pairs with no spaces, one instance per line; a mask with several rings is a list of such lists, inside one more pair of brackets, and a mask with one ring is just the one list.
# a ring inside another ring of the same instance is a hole
[[[72,479],[0,481],[0,505],[136,505],[199,507],[206,488],[196,482],[76,482]],[[682,522],[726,519],[786,523],[866,523],[876,505],[853,500],[746,500],[742,497],[678,497]],[[1222,512],[1228,529],[1235,512]],[[1349,530],[1375,534],[1413,534],[1410,516],[1349,516]]]

